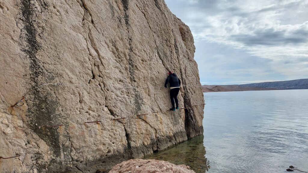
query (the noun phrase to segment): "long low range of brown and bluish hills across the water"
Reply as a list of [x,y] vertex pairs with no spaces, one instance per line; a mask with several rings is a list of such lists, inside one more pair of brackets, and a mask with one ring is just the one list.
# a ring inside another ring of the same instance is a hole
[[203,85],[202,89],[203,92],[308,89],[308,79],[261,82],[253,84],[242,84],[242,85]]

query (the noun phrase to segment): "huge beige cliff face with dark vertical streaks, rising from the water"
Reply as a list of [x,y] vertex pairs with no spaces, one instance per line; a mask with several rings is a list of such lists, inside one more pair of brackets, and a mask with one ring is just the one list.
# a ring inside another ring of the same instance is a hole
[[176,112],[169,89],[147,88],[169,69],[201,86],[163,0],[1,0],[0,23],[0,156],[20,155],[0,172],[93,173],[202,134],[200,87],[180,89]]

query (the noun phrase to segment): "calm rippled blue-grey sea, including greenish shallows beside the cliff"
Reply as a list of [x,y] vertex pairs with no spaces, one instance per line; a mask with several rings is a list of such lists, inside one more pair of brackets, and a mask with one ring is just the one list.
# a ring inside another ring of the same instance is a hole
[[146,159],[197,173],[277,173],[290,165],[308,172],[308,90],[204,95],[204,136]]

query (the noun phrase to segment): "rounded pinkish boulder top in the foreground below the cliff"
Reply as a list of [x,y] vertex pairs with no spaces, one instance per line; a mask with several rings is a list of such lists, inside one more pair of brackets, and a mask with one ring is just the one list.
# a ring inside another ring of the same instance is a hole
[[186,165],[175,165],[161,160],[143,160],[131,159],[126,162],[115,165],[109,173],[154,173],[154,172],[168,172],[168,173],[195,173]]

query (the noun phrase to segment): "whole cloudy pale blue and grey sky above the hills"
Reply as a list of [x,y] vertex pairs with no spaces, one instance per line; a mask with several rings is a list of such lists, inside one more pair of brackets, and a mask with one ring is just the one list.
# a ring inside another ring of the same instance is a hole
[[308,0],[165,0],[194,36],[202,85],[308,78]]

